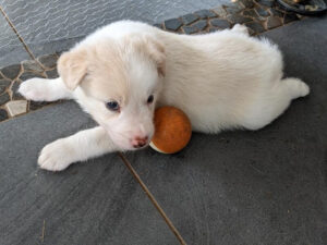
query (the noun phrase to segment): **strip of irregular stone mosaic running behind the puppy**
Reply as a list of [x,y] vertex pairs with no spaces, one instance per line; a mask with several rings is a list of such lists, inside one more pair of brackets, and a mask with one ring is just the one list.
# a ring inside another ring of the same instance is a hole
[[[1,0],[0,0],[1,1]],[[238,0],[234,3],[228,3],[216,7],[211,10],[199,10],[194,13],[184,14],[178,19],[170,19],[155,26],[175,33],[184,34],[205,34],[219,29],[229,28],[235,23],[245,24],[252,36],[261,34],[267,29],[276,28],[283,24],[298,21],[299,16],[293,13],[284,14],[284,10],[271,4],[270,0]],[[71,47],[74,42],[80,41],[82,37],[73,38],[58,44],[49,44],[47,50],[53,51],[52,54],[43,54],[36,61],[27,60],[21,64],[13,64],[0,70],[0,95],[2,106],[12,100],[21,100],[22,96],[16,93],[20,82],[33,77],[58,77],[56,69],[59,53],[55,51],[64,50],[63,47]],[[62,45],[63,44],[63,45]],[[33,47],[34,50],[40,49],[43,53],[46,46]],[[11,87],[11,90],[10,90]],[[5,90],[9,91],[4,93]],[[9,99],[8,99],[9,97]],[[28,101],[28,110],[36,110],[49,102]],[[0,106],[1,108],[1,106]],[[3,109],[3,108],[2,108]]]

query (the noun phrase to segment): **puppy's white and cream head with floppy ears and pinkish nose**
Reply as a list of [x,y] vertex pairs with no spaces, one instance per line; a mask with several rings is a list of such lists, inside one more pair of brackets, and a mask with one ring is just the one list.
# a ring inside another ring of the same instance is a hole
[[147,145],[165,75],[164,46],[146,35],[81,44],[63,53],[58,71],[82,108],[121,149]]

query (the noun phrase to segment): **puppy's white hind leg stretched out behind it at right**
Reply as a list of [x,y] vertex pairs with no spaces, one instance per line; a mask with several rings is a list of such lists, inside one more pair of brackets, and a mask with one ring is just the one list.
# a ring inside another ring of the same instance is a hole
[[308,95],[310,87],[298,78],[284,78],[276,83],[253,106],[246,114],[243,126],[259,130],[277,119],[291,103],[292,99]]

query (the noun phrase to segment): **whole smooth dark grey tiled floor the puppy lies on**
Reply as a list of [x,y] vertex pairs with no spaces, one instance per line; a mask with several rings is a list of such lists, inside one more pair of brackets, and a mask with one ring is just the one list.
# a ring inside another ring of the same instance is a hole
[[[125,155],[185,244],[327,244],[326,28],[312,17],[261,35],[279,45],[286,76],[311,86],[271,125]],[[183,244],[118,155],[37,168],[45,144],[92,126],[74,102],[0,123],[1,245]]]

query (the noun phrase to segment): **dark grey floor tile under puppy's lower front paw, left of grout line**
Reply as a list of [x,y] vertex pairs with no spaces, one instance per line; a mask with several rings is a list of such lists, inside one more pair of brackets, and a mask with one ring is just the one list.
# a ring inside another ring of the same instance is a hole
[[74,103],[0,124],[1,245],[178,244],[116,155],[61,173],[37,168],[45,144],[92,125]]

